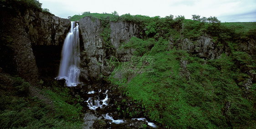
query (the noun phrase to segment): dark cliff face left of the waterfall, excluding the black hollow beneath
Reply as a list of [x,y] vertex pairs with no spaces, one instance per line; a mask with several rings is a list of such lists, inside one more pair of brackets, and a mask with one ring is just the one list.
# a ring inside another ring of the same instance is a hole
[[38,45],[61,46],[70,21],[37,10],[1,7],[0,12],[0,67],[36,84],[39,72],[32,48]]

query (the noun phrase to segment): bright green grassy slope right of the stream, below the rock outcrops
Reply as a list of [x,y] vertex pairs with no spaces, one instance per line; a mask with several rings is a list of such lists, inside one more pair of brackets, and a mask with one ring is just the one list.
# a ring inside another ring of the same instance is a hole
[[[147,44],[153,47],[148,49]],[[243,66],[251,64],[255,68],[250,56],[233,52],[219,59],[203,60],[183,50],[168,50],[166,44],[163,39],[132,38],[124,48],[132,47],[137,55],[154,56],[154,72],[136,74],[131,81],[127,73],[119,80],[114,79],[114,73],[109,77],[143,104],[146,117],[174,129],[255,127],[249,121],[255,121],[256,101],[244,97],[255,98],[255,89],[245,94],[243,88],[249,77]],[[182,61],[188,62],[186,68],[181,67]],[[182,75],[181,70],[189,74]]]

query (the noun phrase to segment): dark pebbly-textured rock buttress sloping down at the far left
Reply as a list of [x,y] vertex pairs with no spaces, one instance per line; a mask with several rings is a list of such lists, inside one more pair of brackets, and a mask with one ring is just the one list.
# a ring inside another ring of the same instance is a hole
[[[5,55],[14,55],[13,59],[8,60],[13,60],[13,68],[16,69],[17,72],[15,74],[18,74],[21,78],[25,79],[30,84],[37,84],[39,81],[39,73],[36,66],[36,59],[31,48],[29,35],[23,28],[19,18],[12,17],[10,15],[5,15],[8,18],[3,18],[3,15],[0,15],[1,20],[3,20],[0,25],[1,31],[10,36],[12,39],[10,41],[10,47],[12,48],[13,53],[5,53]],[[12,24],[9,24],[10,21]],[[5,23],[8,24],[5,25]]]

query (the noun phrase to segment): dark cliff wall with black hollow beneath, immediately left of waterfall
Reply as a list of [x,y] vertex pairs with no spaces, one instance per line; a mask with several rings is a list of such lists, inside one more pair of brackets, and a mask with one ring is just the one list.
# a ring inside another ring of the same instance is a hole
[[41,77],[52,79],[58,75],[61,48],[71,27],[70,22],[44,12],[25,11],[23,23]]

